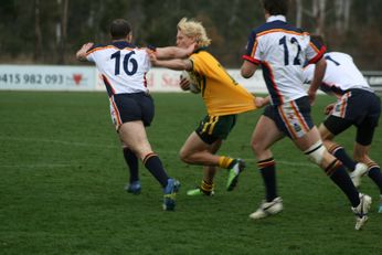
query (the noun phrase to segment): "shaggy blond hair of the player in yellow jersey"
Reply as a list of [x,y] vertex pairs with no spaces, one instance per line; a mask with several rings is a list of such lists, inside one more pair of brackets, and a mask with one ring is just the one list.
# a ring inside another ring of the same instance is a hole
[[205,47],[211,44],[211,39],[206,35],[202,22],[183,18],[178,23],[178,30],[185,36],[194,38],[198,46]]

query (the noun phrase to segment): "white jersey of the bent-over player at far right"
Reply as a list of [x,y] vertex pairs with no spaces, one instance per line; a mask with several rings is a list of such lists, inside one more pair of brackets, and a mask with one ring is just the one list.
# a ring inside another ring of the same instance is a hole
[[[372,91],[362,73],[356,66],[353,59],[346,53],[329,52],[323,55],[327,60],[327,70],[320,89],[327,94],[343,95],[351,88]],[[315,65],[304,70],[304,83],[310,84],[315,73]]]

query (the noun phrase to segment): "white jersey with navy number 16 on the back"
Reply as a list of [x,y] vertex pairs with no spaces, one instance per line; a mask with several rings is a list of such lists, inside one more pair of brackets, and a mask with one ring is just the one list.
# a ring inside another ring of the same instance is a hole
[[96,64],[109,96],[148,91],[146,73],[151,63],[146,50],[118,41],[93,46],[86,57]]

